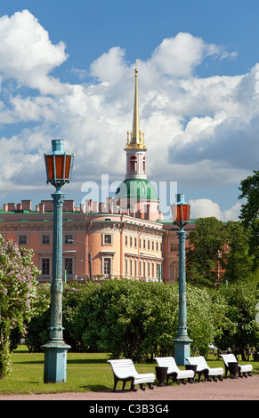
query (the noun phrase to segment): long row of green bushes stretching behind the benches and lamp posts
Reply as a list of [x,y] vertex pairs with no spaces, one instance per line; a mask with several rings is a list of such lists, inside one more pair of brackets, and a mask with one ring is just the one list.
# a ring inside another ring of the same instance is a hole
[[[237,284],[218,290],[187,285],[191,355],[206,356],[211,342],[220,350],[230,347],[239,354],[258,350],[254,315],[258,294],[255,285],[246,281],[240,289]],[[29,350],[41,350],[49,324],[49,309],[32,318],[26,337]],[[69,351],[109,352],[112,358],[133,358],[139,363],[174,356],[178,285],[128,279],[64,285],[63,326]],[[241,332],[245,338],[239,341]]]

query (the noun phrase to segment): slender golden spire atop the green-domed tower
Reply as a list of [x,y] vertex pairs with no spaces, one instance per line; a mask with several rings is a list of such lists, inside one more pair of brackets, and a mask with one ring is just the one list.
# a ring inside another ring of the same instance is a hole
[[131,133],[131,141],[127,141],[126,149],[146,149],[144,138],[140,131],[140,115],[139,115],[139,88],[138,88],[138,68],[136,60],[135,68],[135,92],[134,92],[134,121],[133,131]]

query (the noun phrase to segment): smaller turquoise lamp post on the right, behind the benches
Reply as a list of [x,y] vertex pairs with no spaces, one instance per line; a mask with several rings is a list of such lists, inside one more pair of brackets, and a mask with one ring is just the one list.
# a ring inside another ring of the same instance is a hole
[[190,205],[184,202],[184,195],[176,195],[176,203],[171,205],[174,224],[180,230],[179,237],[179,314],[178,314],[178,334],[175,343],[175,361],[179,366],[188,364],[186,360],[190,357],[190,340],[187,334],[187,309],[186,309],[186,272],[185,272],[185,225],[190,223]]

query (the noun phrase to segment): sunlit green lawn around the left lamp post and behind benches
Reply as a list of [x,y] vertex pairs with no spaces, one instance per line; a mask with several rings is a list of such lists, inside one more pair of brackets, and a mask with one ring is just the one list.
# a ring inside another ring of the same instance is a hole
[[[110,390],[113,389],[113,374],[108,359],[105,353],[68,352],[67,382],[46,384],[44,354],[28,353],[26,347],[20,346],[12,353],[12,374],[0,380],[0,395]],[[207,363],[212,367],[223,366],[223,361],[216,360],[215,356],[210,356]],[[259,362],[252,364],[253,372],[259,374]],[[155,373],[156,363],[135,366],[139,373]],[[126,383],[125,389],[129,384]],[[117,389],[121,388],[122,382],[118,382]]]

